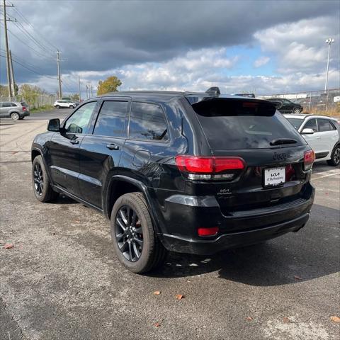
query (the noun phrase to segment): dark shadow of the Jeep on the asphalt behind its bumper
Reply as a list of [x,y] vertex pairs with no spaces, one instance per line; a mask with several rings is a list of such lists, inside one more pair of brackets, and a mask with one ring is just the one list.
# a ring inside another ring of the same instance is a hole
[[339,212],[322,205],[313,208],[310,222],[300,232],[213,256],[170,253],[165,265],[149,276],[179,278],[217,271],[225,280],[273,286],[336,273],[340,269],[339,229],[336,234],[335,227]]

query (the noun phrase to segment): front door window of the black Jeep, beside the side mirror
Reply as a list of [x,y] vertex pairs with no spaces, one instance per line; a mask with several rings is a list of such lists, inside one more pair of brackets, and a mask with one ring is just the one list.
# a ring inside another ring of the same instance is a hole
[[88,133],[88,125],[91,115],[96,107],[96,101],[86,103],[81,106],[74,114],[66,121],[64,128],[70,133]]

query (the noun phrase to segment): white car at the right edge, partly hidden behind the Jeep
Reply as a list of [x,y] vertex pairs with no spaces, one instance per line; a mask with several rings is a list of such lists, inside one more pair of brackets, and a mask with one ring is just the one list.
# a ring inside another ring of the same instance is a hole
[[326,115],[284,115],[315,152],[315,162],[340,164],[340,125]]

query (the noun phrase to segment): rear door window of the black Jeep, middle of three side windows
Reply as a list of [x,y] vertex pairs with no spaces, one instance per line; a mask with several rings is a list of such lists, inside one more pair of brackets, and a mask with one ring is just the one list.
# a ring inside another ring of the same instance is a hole
[[125,116],[128,101],[104,101],[99,112],[94,135],[125,137]]

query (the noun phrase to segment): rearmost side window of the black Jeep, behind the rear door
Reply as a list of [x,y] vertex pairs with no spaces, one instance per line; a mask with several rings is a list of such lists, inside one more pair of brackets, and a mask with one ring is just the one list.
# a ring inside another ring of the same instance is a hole
[[162,108],[157,104],[132,103],[129,135],[139,140],[169,140]]

